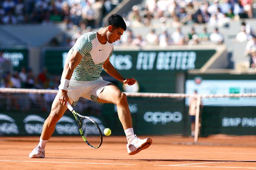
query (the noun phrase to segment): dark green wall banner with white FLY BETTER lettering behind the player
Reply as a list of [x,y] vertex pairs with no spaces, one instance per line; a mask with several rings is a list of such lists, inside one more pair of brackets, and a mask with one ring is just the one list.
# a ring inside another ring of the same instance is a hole
[[[68,49],[44,51],[44,66],[61,75]],[[134,77],[139,92],[175,92],[176,74],[201,68],[216,52],[208,50],[114,50],[112,65],[125,78]],[[108,76],[103,71],[102,76]],[[116,83],[122,90],[122,84]]]

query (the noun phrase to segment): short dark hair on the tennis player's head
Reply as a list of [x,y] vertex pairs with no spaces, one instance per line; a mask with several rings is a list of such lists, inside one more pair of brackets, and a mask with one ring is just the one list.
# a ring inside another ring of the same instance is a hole
[[114,28],[121,27],[122,29],[126,30],[124,19],[118,14],[112,14],[109,16],[104,24],[104,27],[108,27],[110,25],[112,25]]

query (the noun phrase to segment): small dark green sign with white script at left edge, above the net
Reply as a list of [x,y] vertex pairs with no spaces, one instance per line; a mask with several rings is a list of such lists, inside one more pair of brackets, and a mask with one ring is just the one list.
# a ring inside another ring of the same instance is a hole
[[20,68],[28,67],[28,49],[0,49],[3,51],[3,58],[12,63],[13,70],[20,71]]

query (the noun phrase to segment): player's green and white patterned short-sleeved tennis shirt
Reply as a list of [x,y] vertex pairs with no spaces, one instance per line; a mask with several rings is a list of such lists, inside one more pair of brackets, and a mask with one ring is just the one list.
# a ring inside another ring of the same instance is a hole
[[71,79],[76,81],[94,81],[100,77],[102,65],[113,54],[113,45],[109,42],[101,44],[97,38],[97,32],[88,32],[81,35],[72,52],[77,50],[82,59],[74,69]]

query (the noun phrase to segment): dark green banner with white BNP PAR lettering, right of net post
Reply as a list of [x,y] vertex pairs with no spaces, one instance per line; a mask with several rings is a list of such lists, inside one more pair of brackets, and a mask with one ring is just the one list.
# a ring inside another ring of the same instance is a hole
[[201,135],[256,135],[256,107],[204,107]]

